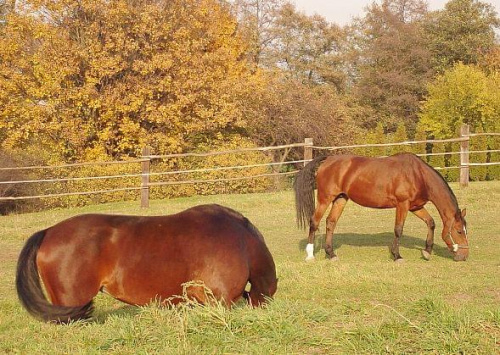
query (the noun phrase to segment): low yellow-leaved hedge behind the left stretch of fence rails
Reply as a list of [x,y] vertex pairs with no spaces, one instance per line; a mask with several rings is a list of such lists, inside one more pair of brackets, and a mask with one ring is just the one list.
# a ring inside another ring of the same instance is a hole
[[[197,153],[237,150],[254,147],[253,143],[240,136],[219,140],[217,144],[200,145]],[[33,163],[14,162],[0,157],[5,166],[29,166]],[[258,151],[227,153],[206,157],[179,157],[152,160],[150,167],[151,199],[192,195],[215,195],[225,193],[252,193],[268,191],[275,179],[264,175],[272,172],[269,166],[232,169],[233,166],[262,165],[270,163],[271,157]],[[37,165],[48,165],[38,162]],[[55,165],[58,165],[57,163]],[[61,165],[59,163],[59,165]],[[214,168],[216,170],[214,170]],[[227,169],[225,169],[227,168]],[[175,173],[176,171],[188,171]],[[0,170],[0,180],[21,180],[27,177],[23,171]],[[140,198],[141,165],[137,161],[129,164],[89,164],[52,169],[35,169],[29,179],[56,180],[28,185],[1,185],[1,196],[55,195],[52,197],[8,201],[0,205],[1,213],[13,209],[34,211],[56,207],[77,207]],[[240,178],[248,177],[248,179]],[[287,180],[288,181],[288,180]],[[154,186],[154,184],[157,184]],[[22,190],[21,190],[22,189]],[[127,190],[130,189],[130,190]],[[110,191],[102,193],[102,191]],[[92,193],[94,192],[94,193]],[[72,195],[65,196],[70,193]]]

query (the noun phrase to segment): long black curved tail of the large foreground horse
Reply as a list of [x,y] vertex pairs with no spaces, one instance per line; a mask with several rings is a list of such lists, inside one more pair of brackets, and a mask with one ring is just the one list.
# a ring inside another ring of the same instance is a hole
[[24,245],[17,262],[16,288],[21,304],[36,318],[49,322],[67,323],[89,318],[92,301],[84,306],[65,307],[51,304],[43,293],[36,255],[45,237],[45,230],[33,234]]

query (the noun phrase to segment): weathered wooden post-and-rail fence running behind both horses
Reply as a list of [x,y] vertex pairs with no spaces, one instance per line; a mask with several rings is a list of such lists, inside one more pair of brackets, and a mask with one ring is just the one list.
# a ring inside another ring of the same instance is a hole
[[[319,147],[315,146],[311,138],[306,138],[303,143],[295,143],[281,146],[272,147],[258,147],[258,148],[245,148],[229,151],[219,151],[219,152],[209,152],[209,153],[186,153],[186,154],[168,154],[168,155],[153,155],[148,147],[145,147],[142,151],[142,156],[140,159],[127,160],[127,161],[112,161],[112,162],[89,162],[89,163],[79,163],[79,164],[65,164],[58,166],[28,166],[28,167],[10,167],[10,168],[0,168],[2,170],[54,170],[61,168],[72,168],[72,167],[82,167],[82,166],[97,166],[97,165],[109,165],[109,164],[138,164],[140,165],[140,172],[136,174],[121,174],[121,175],[106,175],[106,176],[92,176],[92,177],[72,177],[72,178],[47,178],[47,179],[36,179],[36,180],[9,180],[0,181],[0,185],[8,184],[36,184],[36,183],[60,183],[67,181],[91,181],[91,180],[103,180],[103,179],[123,179],[123,178],[137,178],[140,179],[140,184],[133,187],[122,187],[114,189],[100,189],[94,191],[68,191],[64,193],[48,193],[39,194],[32,196],[0,196],[0,203],[5,201],[13,200],[27,200],[27,199],[40,199],[40,198],[50,198],[50,197],[62,197],[62,196],[77,196],[77,195],[90,195],[90,194],[104,194],[112,193],[118,191],[140,191],[140,201],[141,207],[148,207],[150,200],[150,189],[155,187],[161,187],[165,185],[181,185],[181,184],[200,184],[209,183],[217,181],[233,181],[233,180],[248,180],[263,177],[277,177],[277,176],[287,176],[293,175],[298,170],[300,165],[305,165],[313,157],[314,152],[319,154],[325,154],[328,152],[338,152],[338,151],[349,151],[355,148],[370,148],[370,147],[391,147],[391,146],[408,146],[414,144],[436,144],[436,143],[451,143],[459,142],[460,151],[457,152],[445,152],[445,153],[422,153],[417,154],[419,156],[433,156],[433,155],[460,155],[460,165],[450,166],[450,167],[438,167],[435,166],[436,170],[443,169],[460,169],[460,185],[466,187],[469,182],[469,170],[471,167],[475,166],[488,166],[488,165],[500,165],[500,161],[488,162],[488,163],[470,163],[470,155],[476,153],[498,153],[500,150],[487,150],[487,151],[470,151],[470,140],[478,136],[500,136],[500,133],[481,133],[481,134],[470,134],[468,126],[464,125],[461,130],[461,135],[458,138],[453,139],[443,139],[443,140],[423,140],[423,141],[405,141],[398,143],[381,143],[381,144],[366,144],[366,145],[348,145],[348,146],[332,146],[332,147]],[[152,162],[155,160],[168,160],[171,158],[185,158],[185,157],[210,157],[223,154],[240,154],[244,152],[271,152],[274,150],[290,150],[290,149],[303,149],[303,159],[301,160],[291,160],[291,161],[281,161],[281,162],[266,162],[262,164],[248,164],[239,166],[219,166],[211,167],[206,169],[192,169],[192,170],[182,170],[182,171],[152,171]],[[280,171],[279,167],[282,166],[292,166],[293,170]],[[152,176],[165,176],[173,174],[186,174],[186,173],[200,173],[200,172],[213,172],[213,171],[227,171],[227,170],[244,170],[256,167],[271,167],[269,169],[272,172],[258,174],[258,175],[244,175],[240,177],[231,178],[220,178],[220,179],[210,179],[210,180],[180,180],[180,181],[164,181],[164,182],[151,182],[150,177]],[[278,169],[276,169],[278,167]],[[139,170],[139,169],[138,169]]]

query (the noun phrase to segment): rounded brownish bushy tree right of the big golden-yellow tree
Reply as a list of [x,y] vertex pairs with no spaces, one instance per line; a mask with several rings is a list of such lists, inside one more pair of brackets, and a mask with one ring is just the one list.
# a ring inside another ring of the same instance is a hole
[[[244,100],[248,135],[260,146],[297,143],[306,137],[315,145],[350,144],[357,132],[347,104],[327,85],[268,74]],[[288,153],[275,161],[283,161]]]

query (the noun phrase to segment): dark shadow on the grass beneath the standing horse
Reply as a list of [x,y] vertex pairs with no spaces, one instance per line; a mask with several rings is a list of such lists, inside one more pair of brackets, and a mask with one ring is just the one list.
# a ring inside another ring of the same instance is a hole
[[[317,234],[316,241],[314,243],[314,253],[317,254],[323,251],[325,246],[325,234]],[[453,259],[453,255],[450,253],[448,248],[437,245],[437,238],[434,237],[434,248],[432,249],[432,254],[440,256],[442,258]],[[377,234],[356,234],[356,233],[339,233],[333,235],[333,249],[337,251],[343,245],[349,245],[354,247],[387,247],[387,252],[390,257],[390,247],[394,240],[394,234],[392,233],[377,233]],[[307,245],[307,238],[302,239],[299,242],[299,249],[305,251]],[[425,249],[425,238],[415,238],[408,235],[403,235],[400,240],[401,254],[404,258],[404,249]],[[321,254],[319,254],[321,255]],[[422,258],[423,259],[423,258]]]

